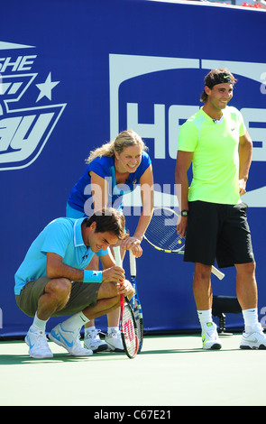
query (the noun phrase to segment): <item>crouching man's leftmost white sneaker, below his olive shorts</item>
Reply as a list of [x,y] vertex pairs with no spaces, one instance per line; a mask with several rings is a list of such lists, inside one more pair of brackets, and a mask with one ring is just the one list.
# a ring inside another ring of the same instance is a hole
[[48,346],[47,337],[41,331],[34,331],[29,329],[25,336],[25,342],[29,349],[29,355],[35,359],[52,358],[50,347]]

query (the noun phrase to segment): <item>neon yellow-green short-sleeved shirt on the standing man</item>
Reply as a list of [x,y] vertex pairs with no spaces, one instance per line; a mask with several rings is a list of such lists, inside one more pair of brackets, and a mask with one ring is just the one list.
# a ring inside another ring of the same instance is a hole
[[193,152],[189,201],[240,202],[238,146],[244,133],[243,116],[233,106],[216,123],[200,108],[181,126],[178,150]]

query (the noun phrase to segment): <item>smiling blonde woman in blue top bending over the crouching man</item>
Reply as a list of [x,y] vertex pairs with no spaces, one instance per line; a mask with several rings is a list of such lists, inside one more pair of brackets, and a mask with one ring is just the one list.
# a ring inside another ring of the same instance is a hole
[[[123,208],[123,196],[141,188],[142,213],[132,236],[121,245],[121,256],[131,249],[136,257],[142,255],[142,237],[151,220],[153,210],[153,174],[151,159],[142,138],[132,130],[123,131],[115,140],[103,144],[90,152],[87,168],[69,194],[67,217],[91,216],[102,207]],[[98,269],[96,256],[90,263],[90,269]],[[96,351],[123,350],[117,326],[119,310],[108,315],[106,343],[98,336],[94,321],[85,328],[85,346]]]

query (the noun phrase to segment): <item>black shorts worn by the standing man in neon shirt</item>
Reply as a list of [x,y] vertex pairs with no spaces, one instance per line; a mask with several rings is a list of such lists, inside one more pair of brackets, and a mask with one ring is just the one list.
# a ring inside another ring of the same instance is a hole
[[184,261],[219,268],[252,263],[252,239],[247,223],[247,205],[189,202]]

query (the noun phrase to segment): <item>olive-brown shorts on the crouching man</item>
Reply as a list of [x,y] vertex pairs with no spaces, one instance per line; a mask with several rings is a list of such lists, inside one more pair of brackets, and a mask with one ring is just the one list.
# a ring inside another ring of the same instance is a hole
[[[38,301],[44,293],[46,284],[50,281],[48,277],[41,277],[36,281],[27,282],[19,295],[15,295],[15,300],[19,309],[29,317],[34,317],[38,308]],[[52,317],[73,315],[96,305],[99,282],[78,282],[73,281],[68,303],[63,309],[55,312]]]

